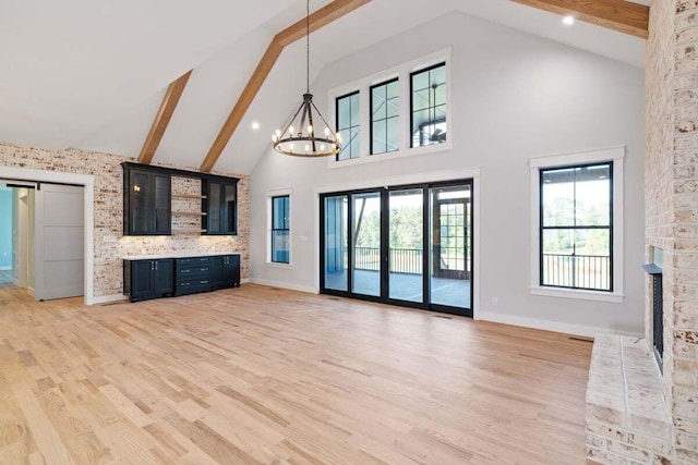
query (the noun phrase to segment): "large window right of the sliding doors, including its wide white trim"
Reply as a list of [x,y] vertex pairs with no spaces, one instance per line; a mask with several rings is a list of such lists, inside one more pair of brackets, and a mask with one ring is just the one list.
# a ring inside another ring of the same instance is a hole
[[531,294],[622,304],[625,146],[531,158]]

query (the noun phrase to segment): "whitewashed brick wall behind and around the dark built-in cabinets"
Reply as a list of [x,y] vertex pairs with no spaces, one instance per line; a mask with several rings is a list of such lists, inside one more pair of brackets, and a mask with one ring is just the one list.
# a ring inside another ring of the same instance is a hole
[[[123,237],[123,195],[121,163],[131,158],[100,154],[89,150],[47,150],[0,144],[0,166],[33,170],[59,171],[74,174],[91,174],[95,178],[95,296],[121,294],[122,261],[125,255],[161,255],[185,252],[206,254],[215,252],[239,252],[242,277],[249,277],[249,178],[246,175],[217,173],[240,179],[238,184],[238,235],[200,236],[180,234],[172,236]],[[171,167],[193,170],[191,167]],[[172,181],[172,192],[200,193],[201,184],[181,178]],[[180,201],[180,200],[177,200]],[[176,205],[181,209],[191,206]],[[192,223],[192,218],[176,217],[174,227]],[[197,220],[195,220],[197,221]],[[192,223],[193,224],[193,223]],[[105,242],[105,236],[116,236],[117,242]]]

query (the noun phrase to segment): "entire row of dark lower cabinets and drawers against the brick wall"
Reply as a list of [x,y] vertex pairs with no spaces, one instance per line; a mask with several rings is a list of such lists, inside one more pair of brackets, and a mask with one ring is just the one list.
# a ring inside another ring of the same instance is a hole
[[240,255],[123,260],[131,302],[240,286]]

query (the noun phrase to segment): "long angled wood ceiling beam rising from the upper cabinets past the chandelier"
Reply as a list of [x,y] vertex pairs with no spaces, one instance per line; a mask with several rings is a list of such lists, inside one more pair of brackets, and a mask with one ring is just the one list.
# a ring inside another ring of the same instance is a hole
[[[310,15],[310,32],[313,33],[321,27],[330,24],[370,1],[371,0],[335,0],[332,3],[326,4]],[[202,162],[200,167],[202,172],[209,173],[210,170],[213,170],[220,157],[220,154],[222,154],[226,145],[230,142],[230,137],[232,137],[232,134],[238,129],[238,125],[250,108],[250,105],[252,105],[252,101],[256,97],[262,85],[266,81],[266,77],[274,68],[274,64],[281,54],[281,51],[284,51],[285,47],[305,37],[305,27],[306,19],[303,17],[274,36],[264,52],[264,56],[260,60],[260,63],[257,63],[257,68],[254,70],[250,81],[248,81],[248,84],[242,90],[242,94],[238,97],[238,101],[234,107],[232,107],[232,110],[220,129],[218,136],[216,136],[216,139],[210,146],[206,158]]]

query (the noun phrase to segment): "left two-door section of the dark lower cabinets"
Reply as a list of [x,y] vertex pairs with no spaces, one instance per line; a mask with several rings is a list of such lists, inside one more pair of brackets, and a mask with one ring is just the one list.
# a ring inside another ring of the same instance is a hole
[[172,295],[173,260],[123,260],[123,293],[131,302]]

